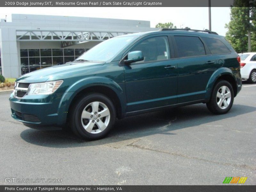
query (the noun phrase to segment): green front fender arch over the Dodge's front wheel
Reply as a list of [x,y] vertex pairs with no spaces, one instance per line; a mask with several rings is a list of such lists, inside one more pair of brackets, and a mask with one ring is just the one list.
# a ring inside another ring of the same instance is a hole
[[59,124],[66,126],[72,104],[82,95],[88,92],[101,93],[106,95],[116,108],[117,118],[122,118],[126,111],[126,96],[124,83],[116,83],[110,78],[93,76],[80,79],[69,86],[59,104]]

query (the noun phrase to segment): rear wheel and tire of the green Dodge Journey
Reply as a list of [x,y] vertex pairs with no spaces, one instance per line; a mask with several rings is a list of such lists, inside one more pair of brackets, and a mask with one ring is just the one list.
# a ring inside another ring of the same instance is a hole
[[216,83],[211,99],[206,103],[207,108],[214,114],[225,114],[233,105],[234,90],[232,85],[225,80]]

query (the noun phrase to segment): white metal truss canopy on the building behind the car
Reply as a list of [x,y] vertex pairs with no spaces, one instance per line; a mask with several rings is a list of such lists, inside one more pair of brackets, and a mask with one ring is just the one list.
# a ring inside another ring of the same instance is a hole
[[112,37],[131,34],[123,31],[78,31],[78,30],[16,30],[17,41],[60,41],[68,47],[88,41],[104,41]]

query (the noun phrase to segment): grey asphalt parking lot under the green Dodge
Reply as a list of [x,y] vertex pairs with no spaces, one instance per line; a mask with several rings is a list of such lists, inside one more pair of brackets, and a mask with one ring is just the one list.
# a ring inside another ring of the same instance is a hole
[[62,179],[28,183],[50,185],[222,185],[248,177],[243,185],[256,185],[255,93],[244,83],[225,115],[196,104],[124,118],[107,138],[88,142],[27,128],[12,119],[9,95],[0,95],[0,185],[26,184],[6,177]]

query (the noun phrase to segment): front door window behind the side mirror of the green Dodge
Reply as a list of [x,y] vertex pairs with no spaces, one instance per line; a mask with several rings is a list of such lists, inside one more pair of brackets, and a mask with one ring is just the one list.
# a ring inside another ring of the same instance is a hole
[[132,51],[141,51],[144,56],[144,60],[134,62],[134,64],[170,59],[166,36],[149,38],[132,48]]

